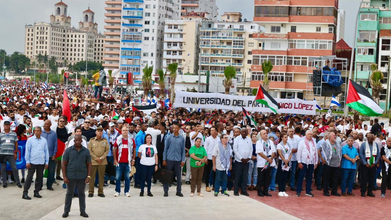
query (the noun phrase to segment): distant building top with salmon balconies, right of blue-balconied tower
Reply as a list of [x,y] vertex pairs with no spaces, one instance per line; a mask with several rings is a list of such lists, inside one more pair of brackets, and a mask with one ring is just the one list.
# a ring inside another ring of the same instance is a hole
[[190,15],[192,11],[208,13],[212,17],[218,15],[216,0],[182,0],[181,1],[181,17]]

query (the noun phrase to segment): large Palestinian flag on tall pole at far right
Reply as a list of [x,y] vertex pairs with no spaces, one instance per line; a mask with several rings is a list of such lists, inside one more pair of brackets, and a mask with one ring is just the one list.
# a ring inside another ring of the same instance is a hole
[[372,99],[368,90],[350,79],[346,105],[368,116],[383,114],[383,109]]

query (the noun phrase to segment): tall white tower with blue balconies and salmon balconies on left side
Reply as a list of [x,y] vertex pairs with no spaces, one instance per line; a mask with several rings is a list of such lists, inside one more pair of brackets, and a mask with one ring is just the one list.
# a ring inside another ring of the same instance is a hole
[[[111,1],[106,1],[106,4],[109,5],[110,3]],[[115,58],[115,55],[118,55],[119,67],[116,69],[114,60],[105,60],[104,66],[106,69],[115,70],[113,74],[116,77],[132,72],[136,86],[141,85],[142,74],[140,73],[142,73],[142,69],[146,65],[153,65],[154,72],[156,69],[160,69],[163,58],[164,20],[166,18],[179,18],[180,4],[179,0],[167,0],[164,2],[123,0],[120,29],[106,28],[106,30],[110,29],[111,32],[115,33],[110,36],[113,39],[112,45],[116,45],[114,44],[115,42],[120,44],[118,52],[117,47],[106,47],[105,57],[107,57],[107,54],[112,55],[112,57],[109,55],[109,58]],[[106,9],[107,18],[110,17],[108,14],[117,14],[119,11],[111,11],[109,9],[110,7]],[[109,13],[109,11],[111,12]],[[117,18],[113,17],[111,19],[115,20]],[[118,39],[114,36],[120,36],[120,38]],[[116,40],[114,41],[114,39]],[[109,66],[109,64],[112,64],[112,66]]]

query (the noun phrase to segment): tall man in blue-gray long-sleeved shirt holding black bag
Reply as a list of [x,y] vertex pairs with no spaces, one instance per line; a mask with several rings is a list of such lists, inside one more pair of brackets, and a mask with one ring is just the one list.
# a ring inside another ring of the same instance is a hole
[[[182,167],[185,165],[185,138],[179,135],[179,124],[172,126],[174,133],[169,135],[164,143],[163,166],[167,170],[174,170],[176,176],[176,195],[183,197],[181,193]],[[169,196],[169,183],[163,183],[164,196]]]

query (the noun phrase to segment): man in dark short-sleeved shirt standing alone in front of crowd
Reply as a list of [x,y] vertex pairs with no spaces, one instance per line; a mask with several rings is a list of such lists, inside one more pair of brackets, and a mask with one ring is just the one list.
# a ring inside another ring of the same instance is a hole
[[87,148],[84,148],[81,145],[81,135],[75,135],[74,142],[75,144],[73,146],[65,149],[61,163],[64,183],[68,185],[66,188],[63,218],[66,218],[69,215],[72,196],[76,186],[79,193],[80,215],[84,218],[88,218],[88,215],[86,214],[86,194],[84,191],[86,184],[89,183],[91,179],[91,154]]

